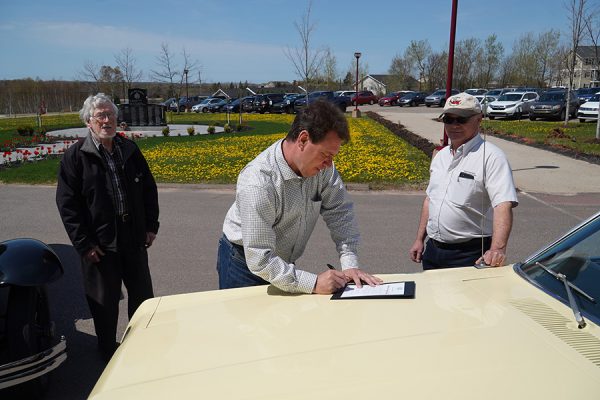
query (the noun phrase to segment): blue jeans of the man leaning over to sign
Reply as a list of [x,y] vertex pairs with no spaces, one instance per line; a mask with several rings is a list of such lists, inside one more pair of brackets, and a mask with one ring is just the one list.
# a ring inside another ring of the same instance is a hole
[[269,284],[248,269],[244,248],[231,243],[225,235],[219,239],[217,272],[219,273],[219,289]]

